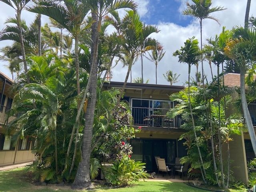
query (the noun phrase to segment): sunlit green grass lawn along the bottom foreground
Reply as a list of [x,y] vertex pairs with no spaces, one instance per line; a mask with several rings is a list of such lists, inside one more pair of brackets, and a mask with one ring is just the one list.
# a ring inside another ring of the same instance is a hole
[[[35,186],[24,168],[0,172],[0,192],[86,192],[71,190],[70,186]],[[90,192],[206,192],[180,182],[140,181],[126,188],[97,188]],[[242,192],[230,190],[230,192]]]

